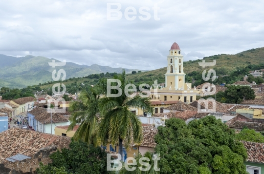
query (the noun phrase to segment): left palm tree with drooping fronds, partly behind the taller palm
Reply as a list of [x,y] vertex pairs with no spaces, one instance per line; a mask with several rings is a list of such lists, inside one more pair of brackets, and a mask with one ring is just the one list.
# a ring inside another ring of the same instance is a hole
[[82,139],[88,144],[98,145],[96,141],[96,128],[99,121],[98,99],[99,95],[96,93],[96,88],[88,86],[83,88],[80,101],[73,101],[69,106],[71,115],[67,131],[73,130],[74,126],[80,124],[76,133],[73,135],[75,140]]

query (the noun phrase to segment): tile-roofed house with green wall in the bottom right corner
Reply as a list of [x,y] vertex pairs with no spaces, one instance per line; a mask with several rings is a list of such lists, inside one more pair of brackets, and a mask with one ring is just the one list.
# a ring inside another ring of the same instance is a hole
[[247,150],[244,162],[249,174],[264,174],[264,143],[242,141]]

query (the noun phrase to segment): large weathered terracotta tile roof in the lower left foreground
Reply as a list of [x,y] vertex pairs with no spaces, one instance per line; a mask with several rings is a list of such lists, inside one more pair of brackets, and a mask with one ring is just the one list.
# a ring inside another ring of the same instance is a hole
[[11,128],[0,133],[0,142],[0,163],[4,163],[5,158],[16,154],[33,157],[41,148],[48,146],[68,148],[70,138]]

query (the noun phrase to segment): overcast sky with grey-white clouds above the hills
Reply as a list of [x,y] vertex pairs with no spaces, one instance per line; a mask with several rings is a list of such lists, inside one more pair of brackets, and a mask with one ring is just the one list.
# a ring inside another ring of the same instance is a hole
[[[108,20],[110,2],[121,5],[121,19]],[[129,15],[134,20],[124,15],[128,7],[136,10],[136,15]],[[140,8],[150,15],[140,14]],[[175,41],[185,61],[264,47],[264,1],[0,1],[0,54],[4,55],[150,70],[166,66]]]

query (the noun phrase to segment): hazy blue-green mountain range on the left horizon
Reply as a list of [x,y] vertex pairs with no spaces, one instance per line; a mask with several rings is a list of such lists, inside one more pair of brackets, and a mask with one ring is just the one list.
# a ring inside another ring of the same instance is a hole
[[[45,58],[41,56],[12,57],[0,55],[0,88],[25,88],[29,85],[52,81],[52,71],[59,68],[52,68],[48,62],[56,60],[54,58]],[[56,60],[56,62],[61,62]],[[120,73],[124,69],[127,73],[139,71],[137,69],[111,68],[109,66],[100,66],[93,64],[90,66],[79,65],[67,62],[63,68],[66,71],[66,78],[86,77],[90,74],[100,73]]]

